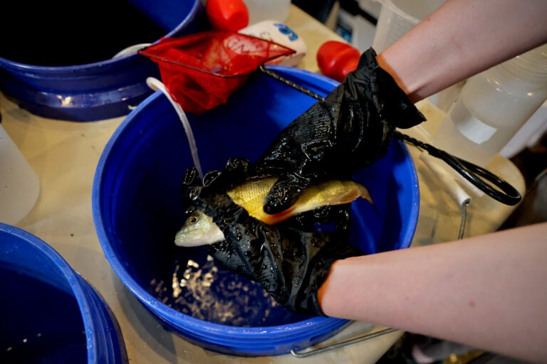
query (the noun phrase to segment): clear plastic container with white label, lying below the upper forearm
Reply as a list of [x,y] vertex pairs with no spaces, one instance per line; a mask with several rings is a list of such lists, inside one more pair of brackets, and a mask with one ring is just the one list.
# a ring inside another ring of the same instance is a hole
[[486,166],[545,100],[547,44],[470,77],[434,143]]

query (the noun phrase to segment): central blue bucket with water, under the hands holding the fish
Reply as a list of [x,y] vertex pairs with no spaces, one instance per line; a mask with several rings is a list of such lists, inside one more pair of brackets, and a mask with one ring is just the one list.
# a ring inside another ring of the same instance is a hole
[[[320,95],[338,83],[297,68],[269,69]],[[188,114],[204,171],[229,157],[258,158],[316,100],[256,73],[225,105]],[[174,245],[184,221],[181,183],[192,157],[177,114],[156,92],[133,110],[105,146],[93,181],[93,220],[118,277],[165,328],[219,353],[280,355],[313,346],[350,323],[277,306],[258,284],[226,272],[202,247]],[[374,207],[355,201],[352,243],[368,254],[410,246],[418,218],[415,166],[402,141],[355,178]]]

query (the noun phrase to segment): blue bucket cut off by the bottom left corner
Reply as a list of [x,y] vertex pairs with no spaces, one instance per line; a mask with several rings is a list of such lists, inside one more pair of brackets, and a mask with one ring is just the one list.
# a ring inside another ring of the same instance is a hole
[[0,223],[1,363],[128,363],[102,297],[51,246]]

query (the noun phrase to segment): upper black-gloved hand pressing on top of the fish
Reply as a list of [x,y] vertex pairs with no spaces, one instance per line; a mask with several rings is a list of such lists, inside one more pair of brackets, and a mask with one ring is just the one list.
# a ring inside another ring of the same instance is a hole
[[372,48],[324,101],[293,120],[251,166],[254,176],[279,176],[264,211],[286,210],[311,183],[345,179],[384,156],[395,128],[425,120]]

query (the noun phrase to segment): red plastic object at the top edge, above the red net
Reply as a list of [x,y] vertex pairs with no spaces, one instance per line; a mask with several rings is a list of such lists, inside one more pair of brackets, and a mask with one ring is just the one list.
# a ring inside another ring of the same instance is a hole
[[249,25],[249,9],[243,0],[207,0],[209,23],[222,31],[239,31]]

